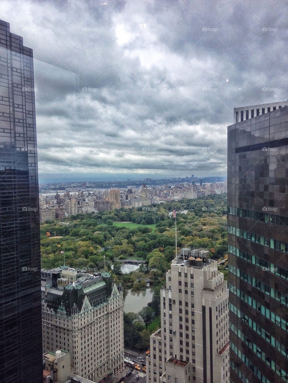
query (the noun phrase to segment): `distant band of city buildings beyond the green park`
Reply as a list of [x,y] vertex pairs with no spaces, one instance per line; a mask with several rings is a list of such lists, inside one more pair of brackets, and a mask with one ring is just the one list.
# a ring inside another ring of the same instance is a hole
[[[69,183],[69,185],[61,185],[67,191],[57,190],[56,193],[54,188],[59,187],[59,185],[41,185],[42,190],[39,194],[40,221],[53,221],[78,213],[97,213],[102,210],[120,208],[143,207],[143,210],[149,211],[149,206],[157,203],[179,201],[183,198],[200,198],[227,192],[227,181],[204,183],[202,179],[198,180],[193,175],[187,178],[171,179],[169,183],[164,180],[164,184],[157,186],[153,184],[151,178],[146,178],[144,182],[150,183],[150,187],[142,183],[140,187],[110,189],[99,187],[98,183],[92,182]],[[128,180],[128,183],[130,181]],[[43,189],[43,187],[50,187],[51,189]]]

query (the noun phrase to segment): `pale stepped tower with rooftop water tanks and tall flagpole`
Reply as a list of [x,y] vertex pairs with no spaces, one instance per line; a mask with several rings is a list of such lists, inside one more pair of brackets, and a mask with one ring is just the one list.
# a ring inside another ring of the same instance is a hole
[[207,253],[183,248],[166,273],[146,383],[229,383],[227,282]]

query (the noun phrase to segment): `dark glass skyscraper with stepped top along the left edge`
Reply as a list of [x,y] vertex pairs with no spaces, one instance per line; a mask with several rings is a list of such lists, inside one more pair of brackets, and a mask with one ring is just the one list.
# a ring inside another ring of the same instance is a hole
[[0,21],[0,376],[43,381],[32,49]]

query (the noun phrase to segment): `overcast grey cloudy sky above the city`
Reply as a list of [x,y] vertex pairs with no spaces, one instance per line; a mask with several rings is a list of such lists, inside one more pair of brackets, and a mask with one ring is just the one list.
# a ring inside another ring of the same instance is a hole
[[226,175],[233,108],[287,100],[287,13],[287,0],[2,0],[34,52],[39,181]]

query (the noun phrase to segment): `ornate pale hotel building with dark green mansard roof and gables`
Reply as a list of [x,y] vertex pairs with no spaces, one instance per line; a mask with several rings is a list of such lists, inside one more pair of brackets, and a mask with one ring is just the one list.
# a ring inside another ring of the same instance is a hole
[[74,372],[99,382],[123,369],[123,290],[109,273],[42,270],[43,352],[66,350]]

